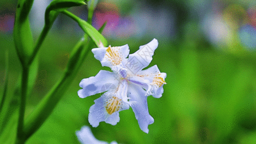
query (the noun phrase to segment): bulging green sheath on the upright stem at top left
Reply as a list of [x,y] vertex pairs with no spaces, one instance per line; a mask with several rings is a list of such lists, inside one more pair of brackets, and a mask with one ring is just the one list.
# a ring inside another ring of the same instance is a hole
[[28,14],[32,7],[33,1],[34,0],[18,1],[13,28],[15,48],[23,66],[27,63],[28,57],[33,51],[33,37],[28,20]]

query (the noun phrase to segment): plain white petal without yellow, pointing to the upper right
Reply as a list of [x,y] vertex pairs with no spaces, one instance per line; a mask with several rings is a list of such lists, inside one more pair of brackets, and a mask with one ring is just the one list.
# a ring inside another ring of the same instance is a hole
[[155,49],[158,47],[158,40],[153,39],[144,46],[140,46],[139,50],[129,55],[129,60],[125,64],[126,68],[134,74],[146,68],[152,60]]

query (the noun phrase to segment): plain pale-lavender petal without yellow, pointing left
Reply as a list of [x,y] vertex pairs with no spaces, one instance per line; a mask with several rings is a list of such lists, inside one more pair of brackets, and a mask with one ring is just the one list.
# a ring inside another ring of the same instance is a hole
[[118,80],[113,72],[101,70],[96,76],[83,79],[79,86],[78,96],[85,98],[111,89],[116,89]]

